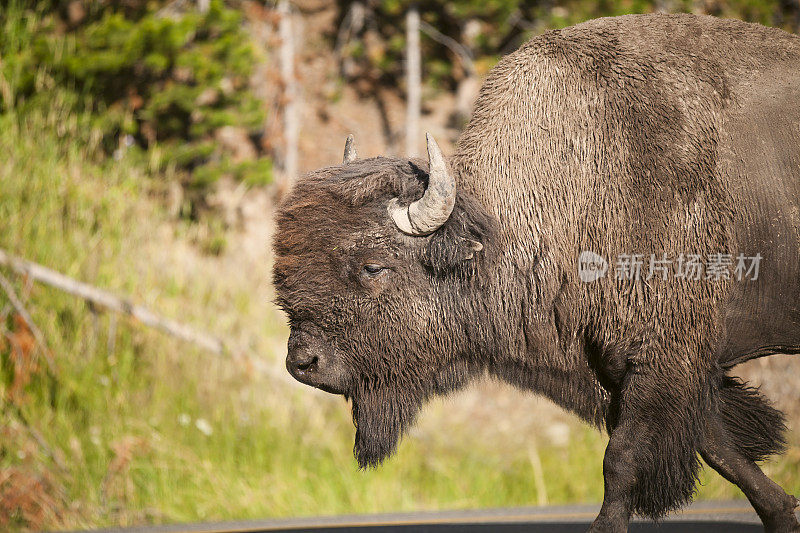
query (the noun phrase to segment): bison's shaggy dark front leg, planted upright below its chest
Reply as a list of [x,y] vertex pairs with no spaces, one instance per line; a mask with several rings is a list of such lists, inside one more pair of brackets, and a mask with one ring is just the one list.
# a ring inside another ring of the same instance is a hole
[[613,400],[605,494],[589,531],[624,532],[632,514],[659,518],[694,492],[702,441],[700,384],[631,365]]

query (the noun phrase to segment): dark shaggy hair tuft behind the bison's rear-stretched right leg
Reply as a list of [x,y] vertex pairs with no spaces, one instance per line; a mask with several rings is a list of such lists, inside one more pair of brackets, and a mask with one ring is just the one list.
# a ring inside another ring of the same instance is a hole
[[730,443],[748,459],[763,461],[786,448],[785,417],[757,387],[724,376],[717,405]]

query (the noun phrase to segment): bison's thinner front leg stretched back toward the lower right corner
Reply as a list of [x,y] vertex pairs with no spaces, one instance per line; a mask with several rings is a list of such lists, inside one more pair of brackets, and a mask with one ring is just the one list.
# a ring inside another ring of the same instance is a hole
[[717,420],[709,421],[701,449],[703,460],[742,489],[768,533],[800,532],[794,514],[797,498],[786,494],[752,459],[732,446],[731,440],[723,424]]

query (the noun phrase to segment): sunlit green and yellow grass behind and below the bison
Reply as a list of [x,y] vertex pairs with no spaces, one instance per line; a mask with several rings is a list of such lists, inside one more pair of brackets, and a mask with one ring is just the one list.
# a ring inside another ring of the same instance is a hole
[[[231,267],[236,258],[197,252],[186,243],[192,229],[168,220],[152,182],[124,158],[96,157],[91,138],[57,99],[47,113],[0,117],[0,247],[167,316],[211,325],[246,341],[251,358],[210,356],[124,319],[112,342],[108,314],[2,270],[57,366],[48,372],[40,360],[24,395],[14,394],[22,365],[0,344],[0,476],[18,476],[14,483],[0,477],[3,527],[600,501],[605,437],[575,421],[566,445],[531,434],[526,447],[485,428],[491,438],[477,439],[477,422],[440,416],[436,431],[412,432],[382,468],[359,471],[344,401],[280,370],[273,352],[286,331],[268,303],[268,265],[250,273],[263,279],[242,279]],[[11,317],[4,338],[19,333]],[[254,372],[258,360],[275,372]],[[435,402],[423,419],[458,408],[448,401]],[[767,469],[798,493],[794,442]],[[741,495],[705,472],[700,497]],[[15,507],[23,503],[24,511]]]

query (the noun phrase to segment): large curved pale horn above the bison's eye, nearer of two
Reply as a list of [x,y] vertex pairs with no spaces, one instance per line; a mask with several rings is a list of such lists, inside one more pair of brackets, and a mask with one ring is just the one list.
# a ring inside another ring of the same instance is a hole
[[408,207],[403,207],[397,198],[389,202],[389,215],[403,233],[429,235],[439,229],[450,218],[456,203],[456,181],[447,171],[442,151],[430,133],[428,141],[428,188],[425,194]]

